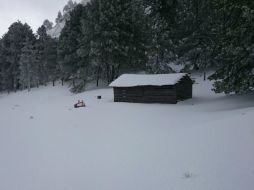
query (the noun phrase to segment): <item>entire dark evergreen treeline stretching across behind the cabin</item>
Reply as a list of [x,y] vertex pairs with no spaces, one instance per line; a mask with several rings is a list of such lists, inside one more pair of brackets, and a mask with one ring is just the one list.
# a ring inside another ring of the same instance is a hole
[[1,90],[61,79],[73,92],[123,72],[212,69],[214,90],[254,88],[253,0],[91,0],[70,13],[60,38],[14,23],[0,41]]

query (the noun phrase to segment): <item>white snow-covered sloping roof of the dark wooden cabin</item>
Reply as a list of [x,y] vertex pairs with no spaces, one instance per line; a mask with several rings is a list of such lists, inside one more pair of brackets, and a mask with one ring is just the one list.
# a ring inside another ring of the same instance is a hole
[[173,74],[124,74],[113,81],[110,87],[164,86],[175,85],[187,73]]

